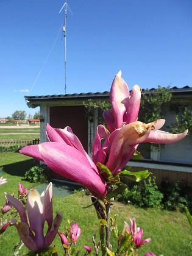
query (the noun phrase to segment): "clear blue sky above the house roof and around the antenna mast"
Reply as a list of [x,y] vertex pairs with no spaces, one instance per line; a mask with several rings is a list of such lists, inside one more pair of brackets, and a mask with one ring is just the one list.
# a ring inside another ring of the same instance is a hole
[[[0,117],[15,110],[34,115],[38,108],[28,108],[25,95],[65,94],[64,3],[0,1]],[[68,5],[73,14],[67,10],[66,93],[108,91],[119,69],[130,89],[192,87],[191,0]]]

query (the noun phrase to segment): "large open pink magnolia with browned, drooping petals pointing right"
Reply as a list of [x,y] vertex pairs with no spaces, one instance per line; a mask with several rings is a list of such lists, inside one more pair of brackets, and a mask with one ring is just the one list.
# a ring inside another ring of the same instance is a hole
[[[110,90],[112,109],[104,112],[108,130],[98,126],[93,142],[93,161],[107,166],[113,176],[129,162],[139,143],[174,143],[182,140],[188,130],[172,134],[159,130],[165,119],[150,124],[137,121],[140,108],[141,89],[135,85],[131,95],[126,82],[121,78],[121,71],[116,74]],[[104,140],[104,143],[101,141]]]

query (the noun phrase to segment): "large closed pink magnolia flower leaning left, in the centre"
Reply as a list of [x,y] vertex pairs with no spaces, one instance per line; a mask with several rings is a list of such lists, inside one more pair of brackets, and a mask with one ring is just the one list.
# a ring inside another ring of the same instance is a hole
[[94,196],[104,199],[107,183],[71,128],[55,129],[47,124],[46,133],[50,142],[26,146],[20,153],[43,161],[53,171],[82,184]]

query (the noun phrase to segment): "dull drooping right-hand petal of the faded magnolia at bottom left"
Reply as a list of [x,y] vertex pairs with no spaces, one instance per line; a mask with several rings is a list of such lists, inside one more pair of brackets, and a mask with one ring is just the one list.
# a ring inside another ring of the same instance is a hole
[[57,235],[57,232],[59,230],[59,226],[62,223],[63,215],[60,212],[56,213],[56,217],[54,218],[54,221],[52,222],[51,230],[46,234],[44,238],[44,248],[48,248],[52,241],[54,240],[55,236]]

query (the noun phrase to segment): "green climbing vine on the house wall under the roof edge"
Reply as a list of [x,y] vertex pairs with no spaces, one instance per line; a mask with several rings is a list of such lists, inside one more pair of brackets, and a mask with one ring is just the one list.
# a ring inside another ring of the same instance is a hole
[[[163,88],[158,85],[155,90],[143,90],[141,94],[141,107],[138,114],[138,121],[151,123],[157,119],[165,118],[165,111],[168,111],[168,107],[171,102],[172,94],[169,87]],[[102,112],[111,108],[109,101],[92,101],[88,99],[88,102],[84,102],[87,108],[87,115],[93,116],[93,109],[98,108]],[[180,133],[188,129],[192,131],[192,110],[188,107],[174,108],[176,111],[176,121],[169,127],[170,132]],[[104,123],[104,120],[100,117],[99,123]]]

